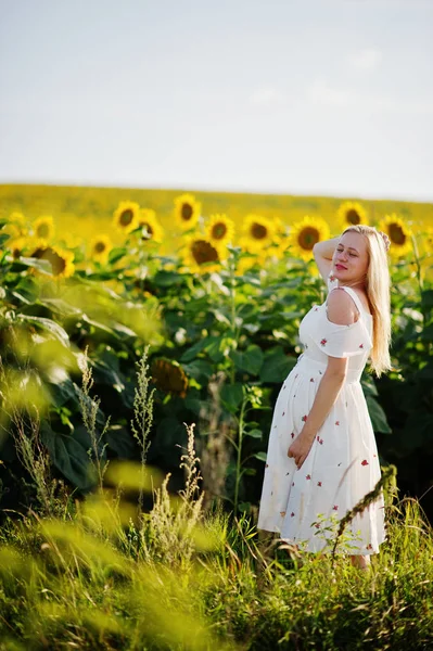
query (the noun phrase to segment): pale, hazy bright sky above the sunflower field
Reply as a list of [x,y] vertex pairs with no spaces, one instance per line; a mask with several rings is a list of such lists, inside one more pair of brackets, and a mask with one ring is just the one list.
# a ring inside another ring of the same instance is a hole
[[0,15],[0,183],[433,201],[433,0]]

